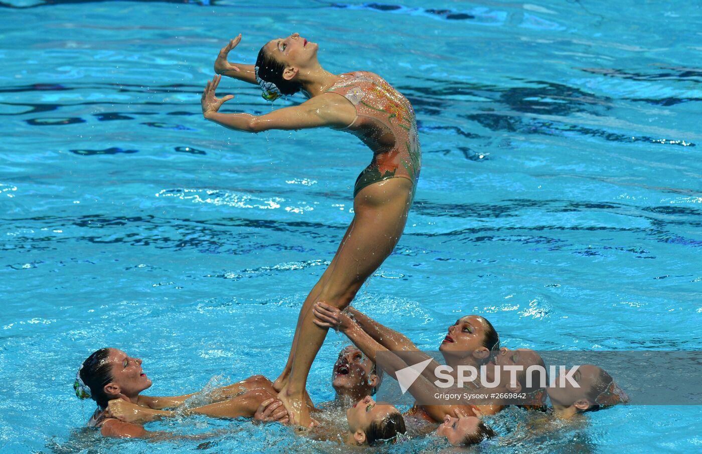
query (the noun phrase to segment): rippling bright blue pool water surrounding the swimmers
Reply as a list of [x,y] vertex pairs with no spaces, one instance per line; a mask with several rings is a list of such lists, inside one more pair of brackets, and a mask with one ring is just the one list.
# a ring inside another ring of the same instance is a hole
[[[299,32],[416,108],[416,200],[359,309],[426,349],[468,313],[512,348],[702,349],[701,20],[698,2],[637,0],[0,0],[0,450],[345,451],[204,418],[149,427],[223,431],[204,445],[81,429],[73,377],[102,346],[143,358],[157,395],[276,377],[352,217],[370,160],[352,136],[201,118],[239,32],[232,60]],[[271,109],[231,79],[220,93],[225,112]],[[315,401],[344,344],[320,351]],[[508,410],[477,450],[695,452],[701,416],[618,407],[534,436]]]

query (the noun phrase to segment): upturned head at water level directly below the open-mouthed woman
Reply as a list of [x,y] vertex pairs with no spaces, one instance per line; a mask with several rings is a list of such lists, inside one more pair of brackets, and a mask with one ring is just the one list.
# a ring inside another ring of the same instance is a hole
[[402,413],[395,406],[376,403],[365,396],[346,410],[349,424],[347,443],[373,445],[380,441],[397,441],[406,432]]

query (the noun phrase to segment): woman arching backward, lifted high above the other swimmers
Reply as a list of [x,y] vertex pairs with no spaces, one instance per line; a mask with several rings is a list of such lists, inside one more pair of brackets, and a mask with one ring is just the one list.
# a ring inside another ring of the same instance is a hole
[[[260,49],[256,65],[227,61],[228,53],[239,41],[241,35],[220,51],[215,63],[218,74],[258,84],[267,100],[298,91],[307,100],[260,116],[220,113],[222,104],[233,96],[216,97],[221,78],[218,75],[207,83],[201,97],[206,119],[254,133],[268,129],[338,129],[357,136],[373,155],[354,186],[354,218],[331,264],[300,309],[288,362],[274,382],[278,398],[295,415],[292,422],[307,426],[307,375],[327,332],[312,322],[312,304],[324,301],[344,309],[397,244],[421,165],[416,119],[409,100],[378,74],[326,71],[317,60],[317,44],[297,33],[268,41]],[[319,153],[327,153],[327,148],[320,144]]]

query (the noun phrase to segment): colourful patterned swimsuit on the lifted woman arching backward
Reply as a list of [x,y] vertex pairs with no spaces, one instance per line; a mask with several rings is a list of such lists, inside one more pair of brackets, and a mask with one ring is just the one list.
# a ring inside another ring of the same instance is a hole
[[356,180],[354,197],[370,184],[395,177],[412,181],[414,190],[422,154],[409,100],[378,74],[356,71],[340,77],[328,91],[350,100],[356,108],[354,121],[340,129],[354,134],[373,151],[371,164]]

